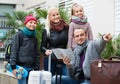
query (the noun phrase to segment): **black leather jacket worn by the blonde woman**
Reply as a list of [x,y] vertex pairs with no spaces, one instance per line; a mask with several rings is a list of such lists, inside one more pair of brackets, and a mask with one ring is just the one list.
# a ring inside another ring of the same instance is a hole
[[47,49],[66,48],[68,42],[68,28],[60,31],[50,30],[50,36],[44,29],[42,33],[41,50],[45,53]]

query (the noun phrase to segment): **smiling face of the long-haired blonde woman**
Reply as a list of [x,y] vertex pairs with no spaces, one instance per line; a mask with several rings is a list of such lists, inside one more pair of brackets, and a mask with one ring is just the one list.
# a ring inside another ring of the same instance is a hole
[[56,9],[51,10],[48,18],[51,22],[58,23],[60,21],[59,11]]

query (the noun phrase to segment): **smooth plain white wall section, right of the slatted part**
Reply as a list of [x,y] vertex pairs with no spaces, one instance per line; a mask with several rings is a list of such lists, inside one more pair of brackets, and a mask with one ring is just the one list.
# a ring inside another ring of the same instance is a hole
[[98,32],[112,33],[115,29],[114,0],[94,0],[92,28],[94,37]]

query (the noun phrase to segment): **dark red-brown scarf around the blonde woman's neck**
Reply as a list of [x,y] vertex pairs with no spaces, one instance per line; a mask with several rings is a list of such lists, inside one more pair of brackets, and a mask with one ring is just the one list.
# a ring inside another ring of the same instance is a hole
[[60,20],[58,23],[50,22],[50,29],[60,31],[63,28],[68,28],[68,24],[66,24],[63,20]]

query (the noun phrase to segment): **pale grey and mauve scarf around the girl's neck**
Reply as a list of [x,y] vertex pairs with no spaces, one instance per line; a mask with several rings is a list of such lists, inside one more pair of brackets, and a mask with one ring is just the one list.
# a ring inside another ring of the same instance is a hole
[[76,17],[76,16],[72,16],[71,22],[74,22],[76,24],[85,24],[87,23],[87,17]]

